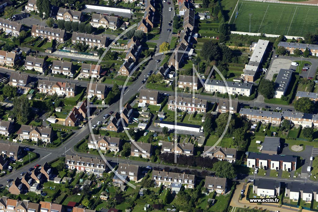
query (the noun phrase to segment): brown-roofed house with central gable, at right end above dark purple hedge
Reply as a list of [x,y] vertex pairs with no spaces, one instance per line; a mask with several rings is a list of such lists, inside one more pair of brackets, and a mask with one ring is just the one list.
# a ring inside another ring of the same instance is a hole
[[236,154],[235,148],[204,146],[203,157],[216,158],[220,161],[233,163],[236,161]]

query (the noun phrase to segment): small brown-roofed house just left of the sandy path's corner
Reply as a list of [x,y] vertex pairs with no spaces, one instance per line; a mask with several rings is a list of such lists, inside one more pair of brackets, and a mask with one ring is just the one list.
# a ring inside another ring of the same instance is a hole
[[227,179],[222,177],[205,176],[204,188],[207,188],[209,193],[215,191],[217,194],[226,194],[228,191]]

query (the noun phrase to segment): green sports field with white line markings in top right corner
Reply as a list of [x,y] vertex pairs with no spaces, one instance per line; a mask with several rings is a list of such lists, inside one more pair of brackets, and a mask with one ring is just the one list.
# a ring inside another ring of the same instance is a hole
[[[304,36],[318,26],[318,6],[239,1],[238,16],[230,20],[232,31]],[[249,14],[252,14],[249,16]]]

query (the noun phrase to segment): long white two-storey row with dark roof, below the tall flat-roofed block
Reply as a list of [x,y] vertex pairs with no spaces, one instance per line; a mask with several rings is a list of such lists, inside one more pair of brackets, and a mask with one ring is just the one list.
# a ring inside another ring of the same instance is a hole
[[250,96],[252,94],[252,83],[225,82],[223,80],[208,80],[204,89],[208,92],[228,93],[230,95]]

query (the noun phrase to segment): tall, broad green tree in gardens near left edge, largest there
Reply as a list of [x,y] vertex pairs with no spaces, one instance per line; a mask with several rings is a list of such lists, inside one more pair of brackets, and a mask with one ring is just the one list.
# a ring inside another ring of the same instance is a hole
[[13,113],[17,116],[17,119],[21,122],[26,122],[30,116],[30,103],[27,97],[21,96],[13,99]]

